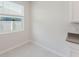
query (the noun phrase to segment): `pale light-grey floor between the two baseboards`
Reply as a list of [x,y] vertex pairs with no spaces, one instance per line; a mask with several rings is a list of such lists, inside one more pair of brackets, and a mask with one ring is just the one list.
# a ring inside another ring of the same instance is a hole
[[57,55],[34,43],[28,43],[19,48],[6,52],[0,55],[0,57],[57,57]]

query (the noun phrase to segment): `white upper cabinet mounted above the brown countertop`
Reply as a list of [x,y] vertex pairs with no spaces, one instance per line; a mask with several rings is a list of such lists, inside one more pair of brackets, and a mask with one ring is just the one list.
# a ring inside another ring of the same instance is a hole
[[79,23],[79,2],[72,2],[72,22]]

